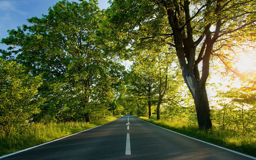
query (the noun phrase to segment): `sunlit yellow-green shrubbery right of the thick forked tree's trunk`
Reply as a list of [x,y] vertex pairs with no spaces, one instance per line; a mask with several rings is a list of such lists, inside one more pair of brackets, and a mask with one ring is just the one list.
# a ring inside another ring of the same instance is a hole
[[219,92],[216,97],[216,103],[221,107],[213,111],[216,127],[232,131],[234,135],[255,135],[255,91],[248,87],[230,88]]

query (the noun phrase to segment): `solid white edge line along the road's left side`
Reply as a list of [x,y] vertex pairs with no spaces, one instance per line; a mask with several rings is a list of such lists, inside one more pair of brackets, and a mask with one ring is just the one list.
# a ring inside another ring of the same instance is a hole
[[[119,117],[119,118],[121,118],[121,117]],[[117,118],[117,119],[119,119],[119,118]],[[115,119],[115,120],[117,120],[117,119]],[[113,121],[115,121],[115,120],[113,120]],[[113,121],[110,121],[110,122],[113,122]],[[108,122],[108,123],[110,123],[110,122]],[[108,124],[108,123],[104,123],[104,124]],[[104,125],[104,124],[101,124],[101,125]],[[101,126],[101,125],[98,125],[98,126],[96,126],[96,127],[99,127],[99,126]],[[75,135],[75,134],[82,133],[82,132],[91,130],[91,129],[96,128],[96,127],[92,127],[92,128],[87,129],[87,130],[84,130],[84,131],[80,131],[80,132],[77,132],[77,133],[74,133],[74,134],[70,134],[70,135],[67,135],[67,136],[65,136],[65,137],[61,137],[61,138],[56,139],[56,140],[51,140],[51,141],[49,141],[49,142],[45,142],[45,143],[39,144],[39,145],[37,145],[37,146],[33,146],[33,147],[26,148],[26,149],[23,149],[23,150],[19,150],[19,151],[10,153],[10,154],[6,154],[6,155],[3,155],[3,156],[0,156],[0,159],[2,159],[2,158],[4,158],[4,157],[8,157],[8,156],[15,155],[15,154],[20,153],[20,152],[27,151],[27,150],[29,150],[29,149],[33,149],[33,148],[36,148],[36,147],[40,147],[40,146],[43,146],[43,145],[45,145],[45,144],[52,143],[52,142],[54,142],[54,141],[64,139],[64,138],[67,138],[67,137],[69,137],[69,136],[73,136],[73,135]]]

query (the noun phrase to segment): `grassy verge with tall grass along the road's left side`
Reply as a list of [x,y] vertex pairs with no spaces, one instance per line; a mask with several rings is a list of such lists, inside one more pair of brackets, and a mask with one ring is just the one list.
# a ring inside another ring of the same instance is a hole
[[80,132],[118,117],[120,116],[106,117],[105,120],[93,121],[90,124],[86,122],[33,124],[21,134],[12,134],[9,139],[0,136],[0,156]]

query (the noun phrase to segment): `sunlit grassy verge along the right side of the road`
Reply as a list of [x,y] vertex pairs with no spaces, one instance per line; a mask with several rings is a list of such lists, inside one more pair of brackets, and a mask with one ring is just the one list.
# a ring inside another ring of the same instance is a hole
[[148,117],[138,117],[146,122],[157,126],[199,139],[225,148],[236,150],[241,153],[256,156],[256,135],[236,135],[223,132],[213,127],[211,131],[205,132],[198,129],[197,123],[167,122],[155,120],[155,116],[149,120]]

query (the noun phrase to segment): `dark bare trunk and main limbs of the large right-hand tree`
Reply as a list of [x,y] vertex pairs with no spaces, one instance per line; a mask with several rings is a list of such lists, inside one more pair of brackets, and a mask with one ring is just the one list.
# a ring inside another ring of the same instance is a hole
[[[214,36],[212,36],[210,33],[211,23],[209,23],[204,28],[202,36],[199,37],[197,41],[194,41],[193,28],[190,24],[189,1],[185,0],[182,8],[180,8],[178,3],[172,4],[165,2],[164,5],[167,11],[169,24],[173,31],[174,46],[180,62],[182,75],[195,102],[199,129],[211,129],[212,121],[205,84],[209,76],[209,61],[212,45],[217,40],[219,33],[218,29],[220,29],[218,27],[220,26],[218,26],[217,23],[216,32]],[[208,5],[210,5],[210,3]],[[218,12],[217,8],[216,12]],[[180,19],[178,17],[184,17],[184,19]],[[184,29],[185,26],[186,30]],[[202,45],[201,52],[196,60],[196,46],[203,40],[204,36],[206,37],[205,43]],[[200,78],[198,63],[201,60],[203,60],[203,70]]]

